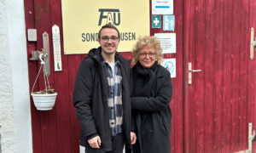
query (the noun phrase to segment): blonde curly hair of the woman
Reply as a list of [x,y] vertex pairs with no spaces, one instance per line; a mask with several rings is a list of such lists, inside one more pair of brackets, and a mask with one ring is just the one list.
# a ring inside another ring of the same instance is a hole
[[131,54],[132,54],[132,65],[136,65],[139,60],[140,50],[144,47],[152,47],[155,49],[155,59],[157,61],[157,65],[161,64],[163,59],[162,48],[160,47],[160,41],[156,37],[144,36],[139,37],[136,44],[134,45]]

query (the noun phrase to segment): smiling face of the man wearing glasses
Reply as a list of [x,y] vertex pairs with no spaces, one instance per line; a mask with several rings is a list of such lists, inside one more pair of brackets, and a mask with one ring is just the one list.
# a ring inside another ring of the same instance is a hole
[[104,54],[114,54],[120,42],[118,32],[111,28],[104,28],[101,31],[101,37],[98,42],[102,46]]

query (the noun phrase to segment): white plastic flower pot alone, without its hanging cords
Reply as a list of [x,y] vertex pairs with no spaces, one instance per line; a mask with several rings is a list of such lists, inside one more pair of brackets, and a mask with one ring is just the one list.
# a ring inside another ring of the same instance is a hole
[[[35,92],[37,93],[37,92]],[[37,107],[37,110],[48,111],[53,108],[55,105],[55,100],[57,93],[54,94],[34,94],[32,93],[32,98],[34,105]]]

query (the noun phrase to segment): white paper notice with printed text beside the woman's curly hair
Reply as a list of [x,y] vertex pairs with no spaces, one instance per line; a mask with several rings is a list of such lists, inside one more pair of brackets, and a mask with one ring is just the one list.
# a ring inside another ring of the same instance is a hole
[[176,53],[176,33],[154,33],[160,40],[163,54]]

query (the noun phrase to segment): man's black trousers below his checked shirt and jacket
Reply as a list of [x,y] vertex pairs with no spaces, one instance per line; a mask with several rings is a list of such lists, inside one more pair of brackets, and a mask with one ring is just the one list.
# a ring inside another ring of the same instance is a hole
[[85,153],[123,153],[124,144],[125,144],[125,140],[124,140],[123,133],[119,133],[115,137],[112,137],[111,151],[105,151],[105,150],[94,149],[94,148],[85,148]]

